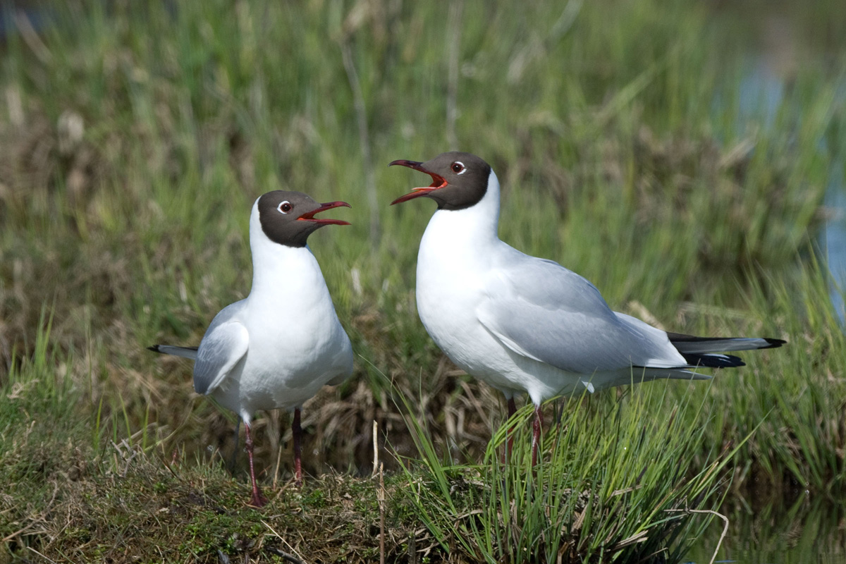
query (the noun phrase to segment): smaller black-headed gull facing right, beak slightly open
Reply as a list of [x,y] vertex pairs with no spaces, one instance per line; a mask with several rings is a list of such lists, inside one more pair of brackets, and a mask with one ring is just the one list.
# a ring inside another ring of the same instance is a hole
[[353,350],[338,321],[320,266],[306,239],[324,225],[315,217],[346,202],[318,204],[299,192],[276,190],[255,200],[250,216],[253,286],[250,295],[218,313],[199,348],[156,345],[151,350],[195,359],[194,389],[211,395],[244,421],[250,503],[261,507],[255,481],[250,421],[259,409],[294,409],[294,476],[302,481],[299,408],[321,386],[353,371]]

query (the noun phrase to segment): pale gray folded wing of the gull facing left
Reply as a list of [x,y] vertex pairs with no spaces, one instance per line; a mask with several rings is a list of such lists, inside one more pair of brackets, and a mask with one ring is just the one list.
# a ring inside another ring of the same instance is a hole
[[585,375],[686,365],[664,331],[615,314],[585,278],[552,260],[512,259],[492,271],[476,313],[514,353]]

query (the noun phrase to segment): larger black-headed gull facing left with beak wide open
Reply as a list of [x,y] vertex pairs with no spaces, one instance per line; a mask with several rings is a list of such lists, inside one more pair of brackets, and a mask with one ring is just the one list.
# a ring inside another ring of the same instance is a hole
[[437,202],[417,255],[420,320],[453,363],[503,392],[509,415],[514,395],[529,394],[533,459],[541,402],[550,397],[632,381],[706,379],[690,370],[743,365],[717,352],[784,343],[669,333],[613,311],[585,278],[499,239],[499,181],[478,156],[448,152],[391,165],[432,178],[392,205],[421,196]]

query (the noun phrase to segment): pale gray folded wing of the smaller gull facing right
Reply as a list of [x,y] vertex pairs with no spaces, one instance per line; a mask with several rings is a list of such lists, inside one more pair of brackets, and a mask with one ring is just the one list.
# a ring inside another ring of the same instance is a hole
[[195,392],[211,393],[247,353],[250,334],[234,319],[239,310],[240,302],[223,308],[206,330],[194,363]]

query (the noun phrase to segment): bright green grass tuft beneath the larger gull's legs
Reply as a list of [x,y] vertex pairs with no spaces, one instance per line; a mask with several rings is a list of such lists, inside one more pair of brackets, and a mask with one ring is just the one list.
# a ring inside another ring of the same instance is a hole
[[[650,386],[631,402],[593,409],[585,398],[563,405],[563,418],[531,463],[526,406],[503,424],[478,465],[444,465],[430,434],[409,415],[421,455],[404,467],[404,490],[426,527],[451,555],[467,561],[681,561],[719,505],[722,452],[698,467],[704,427],[690,432],[687,397],[667,418],[654,418],[668,385]],[[406,408],[409,408],[406,404]],[[610,413],[609,413],[610,411]],[[503,460],[508,429],[516,445]],[[420,468],[423,471],[420,472]],[[690,475],[691,468],[701,468]],[[704,516],[696,519],[695,517]]]

